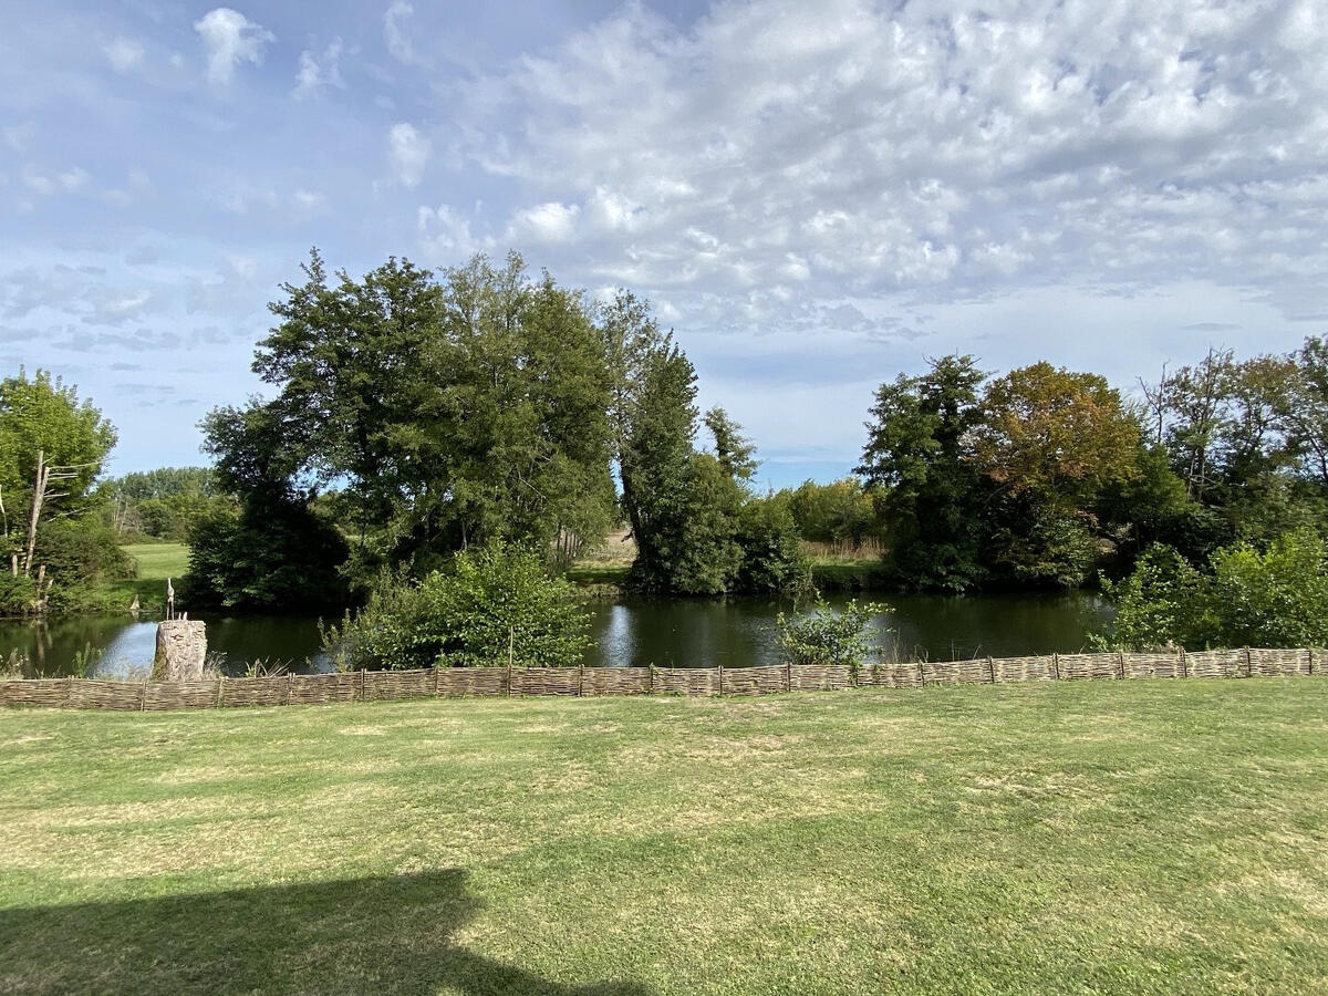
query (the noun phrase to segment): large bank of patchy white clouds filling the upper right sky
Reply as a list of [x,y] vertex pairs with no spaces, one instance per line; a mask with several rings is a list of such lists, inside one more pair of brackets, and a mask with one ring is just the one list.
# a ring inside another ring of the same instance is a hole
[[1328,280],[1328,19],[1279,11],[628,5],[465,88],[459,151],[530,193],[510,238],[718,328],[1198,274],[1291,301]]

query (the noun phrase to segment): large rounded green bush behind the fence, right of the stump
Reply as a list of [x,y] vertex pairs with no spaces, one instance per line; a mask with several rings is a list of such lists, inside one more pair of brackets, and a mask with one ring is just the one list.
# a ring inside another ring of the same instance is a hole
[[493,540],[457,554],[420,582],[385,578],[368,603],[324,631],[343,671],[572,667],[590,647],[575,588],[539,554]]

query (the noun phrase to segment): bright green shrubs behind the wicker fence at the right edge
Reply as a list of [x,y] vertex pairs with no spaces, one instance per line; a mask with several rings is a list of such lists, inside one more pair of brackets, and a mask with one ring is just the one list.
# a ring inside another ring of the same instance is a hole
[[1260,550],[1215,550],[1206,570],[1177,550],[1149,548],[1125,579],[1106,582],[1117,603],[1101,641],[1150,647],[1323,647],[1328,644],[1328,543],[1312,530]]

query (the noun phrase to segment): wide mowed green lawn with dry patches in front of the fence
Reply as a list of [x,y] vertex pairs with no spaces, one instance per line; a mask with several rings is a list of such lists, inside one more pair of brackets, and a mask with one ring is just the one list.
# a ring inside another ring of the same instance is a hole
[[1328,679],[0,712],[0,991],[1328,991]]

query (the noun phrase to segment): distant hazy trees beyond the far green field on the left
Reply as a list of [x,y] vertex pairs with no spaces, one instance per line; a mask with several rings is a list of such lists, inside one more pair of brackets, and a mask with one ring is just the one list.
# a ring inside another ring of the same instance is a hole
[[161,467],[101,485],[102,521],[122,542],[183,543],[194,522],[231,501],[211,467]]

